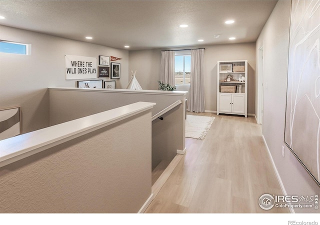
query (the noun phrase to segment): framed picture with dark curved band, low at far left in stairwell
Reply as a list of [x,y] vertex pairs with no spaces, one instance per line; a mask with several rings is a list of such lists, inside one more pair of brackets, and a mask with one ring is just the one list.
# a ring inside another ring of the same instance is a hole
[[21,134],[20,107],[0,109],[0,140]]

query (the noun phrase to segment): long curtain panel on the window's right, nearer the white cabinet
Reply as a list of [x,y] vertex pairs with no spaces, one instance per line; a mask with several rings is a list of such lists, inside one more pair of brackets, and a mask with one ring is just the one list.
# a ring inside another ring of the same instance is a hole
[[188,97],[188,111],[204,112],[203,82],[204,49],[191,49],[191,81]]

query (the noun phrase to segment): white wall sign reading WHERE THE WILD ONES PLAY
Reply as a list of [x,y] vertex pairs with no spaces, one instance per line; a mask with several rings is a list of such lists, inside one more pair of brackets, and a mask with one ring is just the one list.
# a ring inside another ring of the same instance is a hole
[[65,55],[65,79],[96,78],[96,58]]

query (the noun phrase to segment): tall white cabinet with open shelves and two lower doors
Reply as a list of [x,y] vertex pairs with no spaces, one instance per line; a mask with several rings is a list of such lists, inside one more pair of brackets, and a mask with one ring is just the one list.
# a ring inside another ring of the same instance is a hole
[[247,60],[217,61],[216,114],[247,116]]

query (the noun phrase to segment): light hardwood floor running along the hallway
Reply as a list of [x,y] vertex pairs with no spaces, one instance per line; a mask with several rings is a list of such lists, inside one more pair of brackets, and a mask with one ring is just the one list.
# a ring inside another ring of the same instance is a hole
[[261,194],[283,194],[253,116],[216,115],[204,140],[186,138],[186,153],[145,213],[277,213]]

